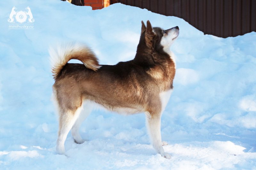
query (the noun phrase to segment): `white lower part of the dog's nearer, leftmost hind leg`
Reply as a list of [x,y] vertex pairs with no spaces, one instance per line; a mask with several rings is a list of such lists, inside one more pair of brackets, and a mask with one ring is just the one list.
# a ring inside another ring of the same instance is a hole
[[68,110],[66,112],[60,113],[59,117],[59,133],[57,139],[56,150],[58,154],[65,154],[64,143],[67,138],[68,132],[76,122],[77,117],[81,112],[82,107],[77,108],[76,110]]

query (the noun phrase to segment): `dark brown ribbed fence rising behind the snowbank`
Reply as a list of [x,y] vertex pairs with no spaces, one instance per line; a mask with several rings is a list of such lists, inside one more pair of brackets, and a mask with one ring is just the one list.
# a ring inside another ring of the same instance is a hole
[[110,0],[183,18],[205,34],[234,37],[256,31],[256,0]]

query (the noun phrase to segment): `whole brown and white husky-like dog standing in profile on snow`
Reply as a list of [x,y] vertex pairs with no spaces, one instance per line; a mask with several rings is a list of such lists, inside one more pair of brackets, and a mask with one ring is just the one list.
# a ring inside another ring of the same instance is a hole
[[[68,132],[76,143],[84,140],[79,128],[92,111],[92,104],[107,110],[132,115],[145,113],[151,143],[164,158],[161,139],[161,115],[173,89],[176,63],[170,46],[179,35],[179,27],[164,30],[147,26],[141,21],[141,35],[133,60],[116,65],[100,65],[87,46],[73,43],[50,48],[52,73],[55,80],[53,97],[59,112],[56,150],[65,154]],[[68,63],[71,59],[84,64]]]

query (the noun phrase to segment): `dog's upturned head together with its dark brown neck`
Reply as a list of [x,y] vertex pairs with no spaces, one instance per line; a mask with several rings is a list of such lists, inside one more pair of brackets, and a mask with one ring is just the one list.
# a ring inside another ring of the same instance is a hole
[[147,26],[141,21],[140,42],[134,61],[140,65],[152,66],[163,63],[170,59],[170,47],[179,35],[179,27],[164,30],[151,26],[147,21]]

